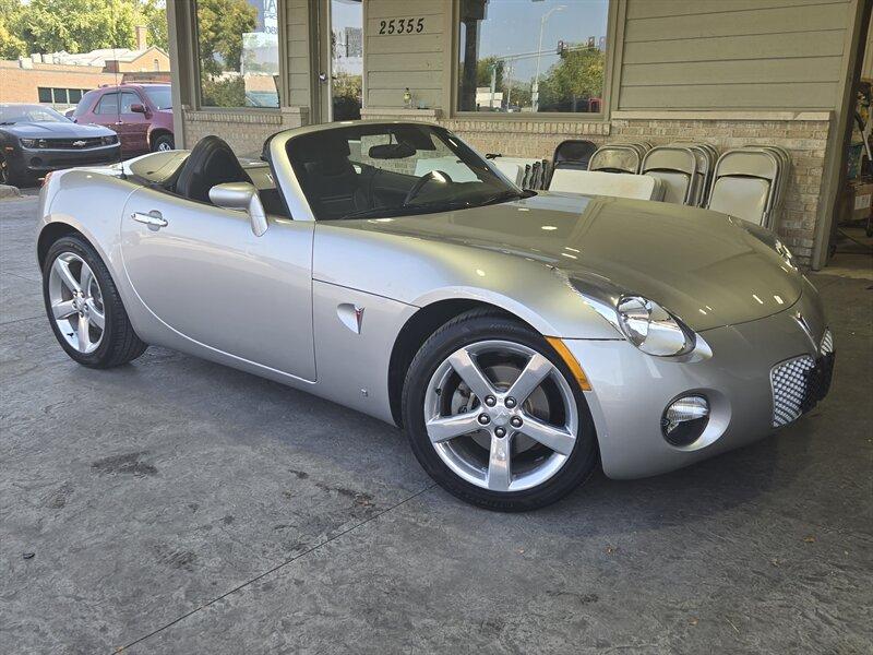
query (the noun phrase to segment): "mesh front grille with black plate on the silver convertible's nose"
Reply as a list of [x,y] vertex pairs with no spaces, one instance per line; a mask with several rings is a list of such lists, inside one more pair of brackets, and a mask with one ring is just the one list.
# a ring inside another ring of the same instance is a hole
[[[824,344],[822,352],[824,353]],[[773,427],[788,425],[815,407],[830,390],[833,376],[833,349],[817,361],[803,355],[776,365],[770,371]]]

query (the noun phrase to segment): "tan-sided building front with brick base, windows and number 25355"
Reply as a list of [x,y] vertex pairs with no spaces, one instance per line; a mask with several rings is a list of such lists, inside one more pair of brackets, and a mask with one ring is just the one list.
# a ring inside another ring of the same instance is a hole
[[253,153],[280,129],[358,116],[536,157],[572,138],[772,143],[793,159],[777,229],[826,262],[863,0],[259,2],[236,56],[199,28],[198,0],[168,0],[177,143],[219,134]]

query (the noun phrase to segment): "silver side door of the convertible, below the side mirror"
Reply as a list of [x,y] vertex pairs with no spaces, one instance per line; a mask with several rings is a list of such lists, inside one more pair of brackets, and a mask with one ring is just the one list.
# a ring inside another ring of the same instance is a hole
[[136,294],[174,331],[314,380],[313,228],[271,216],[255,237],[244,212],[142,188],[121,217],[121,252]]

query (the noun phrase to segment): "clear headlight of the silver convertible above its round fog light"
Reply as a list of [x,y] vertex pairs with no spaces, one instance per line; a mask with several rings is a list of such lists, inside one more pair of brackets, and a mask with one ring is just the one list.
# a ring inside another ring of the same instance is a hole
[[615,312],[627,341],[648,355],[671,357],[694,349],[694,333],[654,300],[622,296]]

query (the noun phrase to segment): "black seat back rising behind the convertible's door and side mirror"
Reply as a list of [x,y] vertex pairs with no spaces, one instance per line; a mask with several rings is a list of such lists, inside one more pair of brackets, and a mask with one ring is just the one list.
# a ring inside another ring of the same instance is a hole
[[179,177],[176,193],[210,202],[210,189],[225,182],[251,182],[230,146],[218,136],[204,136],[191,151]]

